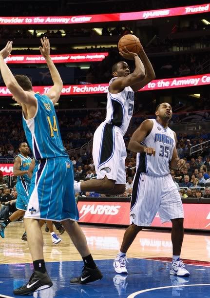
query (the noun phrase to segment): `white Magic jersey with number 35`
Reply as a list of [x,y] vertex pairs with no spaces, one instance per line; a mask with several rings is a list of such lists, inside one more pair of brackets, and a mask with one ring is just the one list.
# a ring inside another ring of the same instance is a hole
[[169,162],[172,160],[173,149],[176,146],[171,128],[163,128],[155,119],[153,129],[142,141],[142,145],[155,149],[155,156],[137,153],[136,171],[159,177],[170,173]]

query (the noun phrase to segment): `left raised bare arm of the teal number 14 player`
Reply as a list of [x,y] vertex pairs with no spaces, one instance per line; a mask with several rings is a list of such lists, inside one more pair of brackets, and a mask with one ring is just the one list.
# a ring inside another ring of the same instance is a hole
[[8,42],[6,46],[0,51],[0,72],[4,81],[4,84],[10,90],[15,98],[21,104],[36,106],[37,101],[31,92],[24,91],[23,88],[18,84],[11,70],[5,63],[4,59],[9,57],[12,51],[12,42]]

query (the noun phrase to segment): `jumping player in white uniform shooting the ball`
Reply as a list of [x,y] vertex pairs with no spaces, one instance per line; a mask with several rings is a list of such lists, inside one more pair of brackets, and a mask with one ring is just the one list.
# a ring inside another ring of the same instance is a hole
[[112,67],[113,78],[107,94],[106,120],[95,130],[93,159],[97,179],[75,184],[75,192],[120,194],[125,192],[127,156],[123,136],[131,121],[134,109],[134,92],[154,78],[151,65],[143,48],[139,56],[125,47],[119,50],[123,58],[134,60],[135,69],[130,73],[128,64],[118,62]]

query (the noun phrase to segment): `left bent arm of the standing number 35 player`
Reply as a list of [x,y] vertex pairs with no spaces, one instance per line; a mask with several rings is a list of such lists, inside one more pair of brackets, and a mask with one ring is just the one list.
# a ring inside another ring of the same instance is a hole
[[155,155],[154,148],[147,147],[141,144],[141,142],[151,132],[152,129],[153,129],[153,122],[151,120],[148,119],[142,122],[140,127],[134,131],[132,138],[128,144],[128,149],[133,152],[139,152],[139,153],[145,152],[149,155],[153,154],[154,156]]

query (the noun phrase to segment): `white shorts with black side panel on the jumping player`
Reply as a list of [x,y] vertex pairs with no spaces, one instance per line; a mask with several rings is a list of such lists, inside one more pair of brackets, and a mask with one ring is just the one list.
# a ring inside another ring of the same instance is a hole
[[93,159],[97,179],[126,183],[125,159],[127,156],[123,134],[120,128],[103,122],[95,130],[93,143]]

